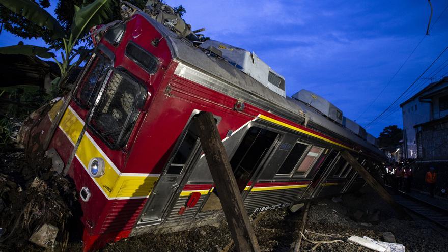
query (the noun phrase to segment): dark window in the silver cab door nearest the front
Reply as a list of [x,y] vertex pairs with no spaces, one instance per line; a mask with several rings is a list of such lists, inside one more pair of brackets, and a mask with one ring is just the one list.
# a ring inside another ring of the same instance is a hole
[[194,149],[198,141],[198,132],[194,124],[190,123],[188,126],[187,132],[185,133],[184,138],[174,155],[173,161],[171,162],[170,167],[166,171],[166,174],[180,174],[187,162],[188,158],[191,155],[191,152]]

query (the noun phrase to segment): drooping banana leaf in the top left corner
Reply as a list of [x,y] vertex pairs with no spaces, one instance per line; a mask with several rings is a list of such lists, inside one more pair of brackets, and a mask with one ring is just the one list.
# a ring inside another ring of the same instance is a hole
[[52,39],[64,38],[66,36],[58,20],[31,0],[0,0],[0,4],[24,16],[33,23],[52,31]]

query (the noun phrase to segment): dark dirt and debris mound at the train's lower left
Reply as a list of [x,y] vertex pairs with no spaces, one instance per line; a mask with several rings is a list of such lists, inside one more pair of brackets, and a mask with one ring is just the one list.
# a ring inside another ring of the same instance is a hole
[[41,250],[28,240],[45,223],[59,230],[55,250],[64,251],[77,239],[69,237],[78,233],[69,228],[77,226],[72,223],[81,212],[73,183],[50,171],[49,159],[37,157],[28,163],[23,153],[0,154],[1,250]]

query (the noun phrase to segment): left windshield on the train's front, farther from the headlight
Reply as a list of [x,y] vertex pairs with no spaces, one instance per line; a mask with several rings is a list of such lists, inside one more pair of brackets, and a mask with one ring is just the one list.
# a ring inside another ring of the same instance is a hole
[[105,74],[105,69],[108,66],[110,66],[109,61],[106,61],[101,55],[94,53],[84,67],[78,79],[74,95],[75,100],[81,107],[91,107],[93,98],[100,87],[97,83],[102,79],[100,77]]

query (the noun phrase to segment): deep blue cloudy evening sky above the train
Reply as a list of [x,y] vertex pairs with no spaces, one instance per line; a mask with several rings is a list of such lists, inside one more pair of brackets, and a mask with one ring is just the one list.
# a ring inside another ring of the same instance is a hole
[[[390,105],[448,46],[448,0],[432,0],[430,35],[423,39],[398,75],[359,119],[424,37],[430,16],[427,0],[401,1],[185,1],[184,19],[206,28],[212,39],[254,51],[286,78],[286,93],[311,90],[365,126]],[[55,6],[55,0],[50,1]],[[0,46],[23,40],[6,31]],[[25,44],[44,45],[40,40]],[[424,78],[448,75],[448,52]],[[432,73],[433,72],[433,73]],[[432,73],[432,74],[431,74]],[[408,98],[428,85],[422,79]],[[401,99],[405,100],[405,99]],[[402,127],[401,109],[368,127],[378,136],[385,126]]]

